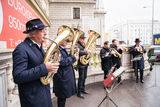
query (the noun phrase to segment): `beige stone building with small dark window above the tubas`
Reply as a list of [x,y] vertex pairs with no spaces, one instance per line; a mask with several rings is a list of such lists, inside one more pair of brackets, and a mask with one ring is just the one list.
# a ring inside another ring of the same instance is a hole
[[100,33],[101,39],[97,44],[101,45],[104,40],[104,16],[102,0],[51,0],[49,6],[49,19],[51,27],[50,38],[54,38],[57,29],[61,25],[71,28],[79,28],[88,37],[88,30]]

